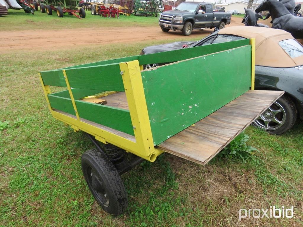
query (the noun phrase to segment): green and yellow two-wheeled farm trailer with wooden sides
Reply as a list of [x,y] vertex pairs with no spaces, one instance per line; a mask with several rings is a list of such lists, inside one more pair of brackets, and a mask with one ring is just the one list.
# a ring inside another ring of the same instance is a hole
[[205,165],[284,93],[254,90],[254,51],[246,39],[40,73],[52,116],[96,146],[82,171],[106,212],[127,207],[122,173],[163,152]]

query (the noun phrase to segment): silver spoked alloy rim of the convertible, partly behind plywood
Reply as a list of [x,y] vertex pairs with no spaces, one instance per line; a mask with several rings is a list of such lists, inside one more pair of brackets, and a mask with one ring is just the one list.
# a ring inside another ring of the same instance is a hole
[[285,123],[286,113],[284,108],[277,102],[274,102],[265,110],[255,121],[255,125],[268,130],[277,130]]

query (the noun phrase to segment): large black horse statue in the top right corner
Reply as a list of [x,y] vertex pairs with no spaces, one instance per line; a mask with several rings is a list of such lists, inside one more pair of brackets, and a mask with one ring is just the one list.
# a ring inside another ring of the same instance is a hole
[[272,27],[283,29],[291,33],[296,39],[303,38],[303,18],[291,14],[288,9],[277,0],[265,0],[257,8],[256,13],[268,10],[272,18]]

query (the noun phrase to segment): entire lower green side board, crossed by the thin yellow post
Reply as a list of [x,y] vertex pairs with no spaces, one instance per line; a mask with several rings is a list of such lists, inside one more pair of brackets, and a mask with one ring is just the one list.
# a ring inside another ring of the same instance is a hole
[[[52,108],[62,110],[75,116],[75,110],[70,98],[48,95]],[[134,135],[132,120],[128,110],[106,105],[88,103],[75,100],[79,117],[104,126],[119,130],[129,135]]]

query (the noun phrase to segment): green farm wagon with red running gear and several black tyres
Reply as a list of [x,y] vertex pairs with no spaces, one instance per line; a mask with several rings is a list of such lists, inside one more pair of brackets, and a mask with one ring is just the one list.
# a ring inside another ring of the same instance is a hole
[[40,3],[40,10],[42,13],[46,12],[48,15],[52,15],[53,11],[55,11],[58,17],[63,17],[65,13],[68,13],[68,15],[74,15],[82,19],[85,18],[85,9],[78,9],[79,3],[80,1],[78,0],[65,0],[63,2],[60,0],[44,0],[44,4],[46,5]]

